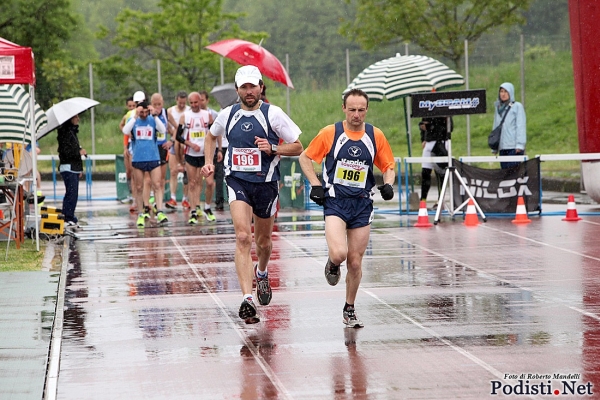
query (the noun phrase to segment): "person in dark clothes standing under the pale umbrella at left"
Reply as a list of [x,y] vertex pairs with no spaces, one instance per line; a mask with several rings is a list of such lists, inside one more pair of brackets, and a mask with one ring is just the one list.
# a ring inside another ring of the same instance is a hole
[[81,156],[87,157],[85,149],[79,145],[79,115],[58,127],[58,158],[59,171],[65,183],[63,199],[63,214],[67,226],[77,226],[75,207],[79,198],[79,178],[83,173]]

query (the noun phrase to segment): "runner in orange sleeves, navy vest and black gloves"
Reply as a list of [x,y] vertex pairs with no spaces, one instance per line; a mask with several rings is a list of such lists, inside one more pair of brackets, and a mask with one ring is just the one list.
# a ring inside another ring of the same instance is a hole
[[[342,103],[345,121],[321,129],[298,160],[312,186],[311,200],[324,206],[325,240],[329,247],[325,264],[328,284],[337,285],[341,264],[347,263],[343,322],[350,328],[363,327],[356,316],[354,301],[373,220],[373,166],[383,172],[383,185],[378,189],[384,200],[394,197],[392,185],[396,178],[389,142],[379,128],[365,123],[368,108],[369,97],[365,92],[360,89],[346,92]],[[313,162],[321,164],[323,161],[324,182],[321,183]]]

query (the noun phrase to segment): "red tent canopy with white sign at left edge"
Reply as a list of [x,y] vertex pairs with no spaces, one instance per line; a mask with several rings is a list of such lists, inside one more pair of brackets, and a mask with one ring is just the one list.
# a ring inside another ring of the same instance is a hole
[[31,47],[22,47],[0,37],[0,84],[35,86],[35,66]]

